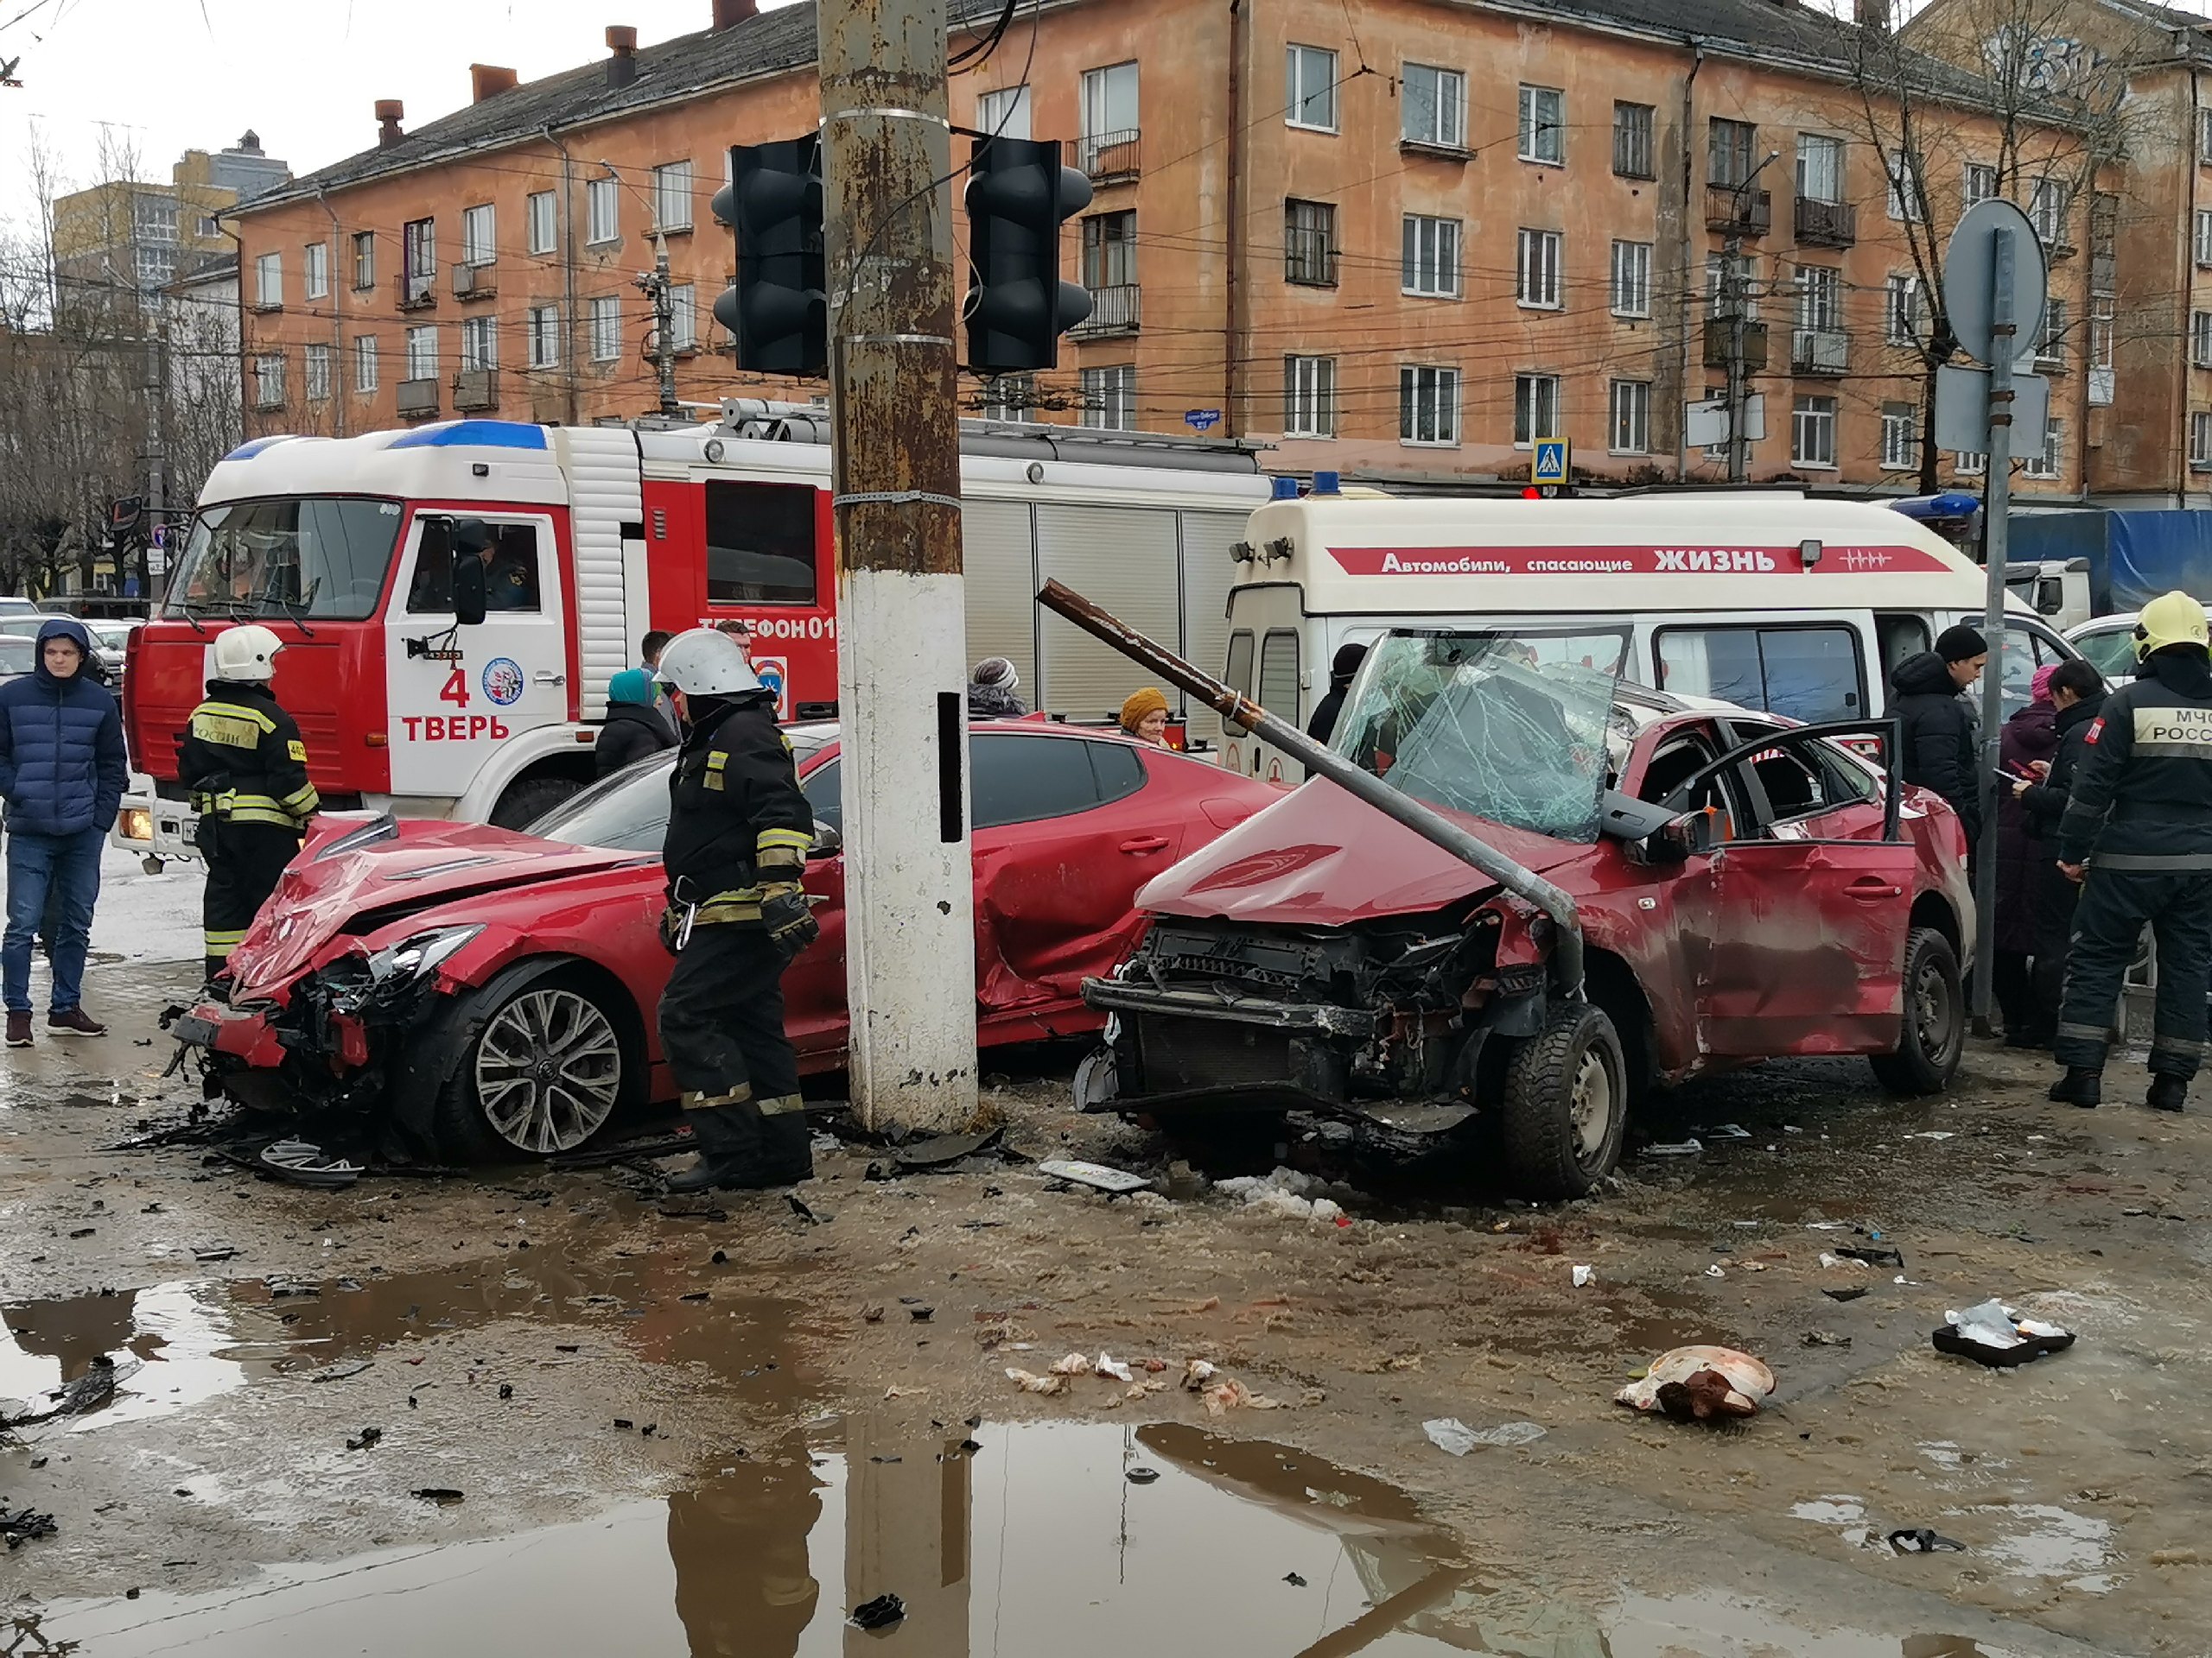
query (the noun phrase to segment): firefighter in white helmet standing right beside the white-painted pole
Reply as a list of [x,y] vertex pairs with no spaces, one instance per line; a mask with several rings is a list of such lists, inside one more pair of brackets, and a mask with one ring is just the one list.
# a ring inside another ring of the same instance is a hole
[[668,780],[661,1054],[699,1165],[670,1192],[796,1185],[814,1174],[799,1054],[783,1032],[783,968],[821,928],[807,909],[814,811],[799,791],[776,699],[714,628],[668,641],[659,679],[684,723]]

